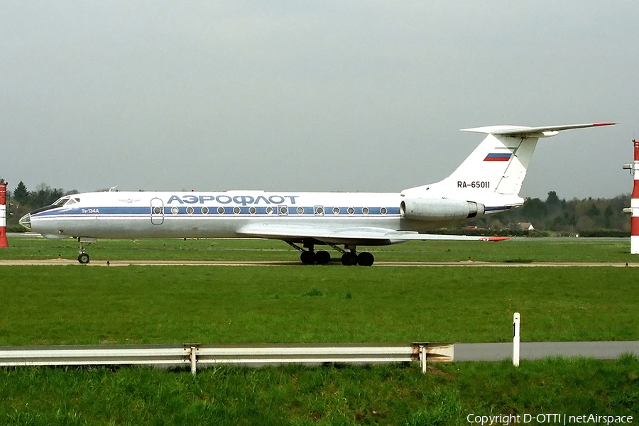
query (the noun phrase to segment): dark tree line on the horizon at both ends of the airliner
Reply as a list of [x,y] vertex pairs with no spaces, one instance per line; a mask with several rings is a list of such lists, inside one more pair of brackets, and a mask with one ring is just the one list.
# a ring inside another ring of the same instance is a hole
[[[0,182],[4,182],[0,178]],[[17,225],[18,220],[31,210],[53,204],[64,195],[77,194],[76,190],[65,191],[40,184],[28,190],[24,183],[7,190],[8,225]],[[581,236],[626,236],[630,235],[630,218],[622,212],[630,207],[630,194],[613,198],[587,198],[578,200],[559,199],[557,192],[550,191],[546,200],[526,198],[523,207],[493,216],[481,217],[473,222],[454,226],[448,232],[473,234],[476,232],[503,235],[581,235]],[[534,231],[527,230],[532,224]],[[11,230],[20,230],[11,226]],[[440,233],[441,230],[435,232]]]

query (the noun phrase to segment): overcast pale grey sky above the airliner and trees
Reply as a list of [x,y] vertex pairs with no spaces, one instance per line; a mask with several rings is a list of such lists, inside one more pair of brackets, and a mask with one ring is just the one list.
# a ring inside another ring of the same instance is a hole
[[400,191],[459,129],[537,145],[520,195],[613,197],[639,138],[639,1],[3,1],[0,177],[80,192]]

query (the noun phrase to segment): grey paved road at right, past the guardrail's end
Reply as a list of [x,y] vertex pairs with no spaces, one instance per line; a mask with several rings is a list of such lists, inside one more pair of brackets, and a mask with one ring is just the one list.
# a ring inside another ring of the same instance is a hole
[[[627,352],[639,356],[639,342],[526,342],[520,346],[520,359],[547,356],[586,356],[618,359]],[[456,343],[455,361],[501,361],[513,359],[513,343]]]

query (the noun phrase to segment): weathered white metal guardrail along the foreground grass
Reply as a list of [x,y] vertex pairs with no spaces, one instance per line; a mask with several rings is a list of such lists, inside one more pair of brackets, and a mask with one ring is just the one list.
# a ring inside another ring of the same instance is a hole
[[452,344],[253,344],[147,346],[0,346],[0,366],[266,366],[453,361]]

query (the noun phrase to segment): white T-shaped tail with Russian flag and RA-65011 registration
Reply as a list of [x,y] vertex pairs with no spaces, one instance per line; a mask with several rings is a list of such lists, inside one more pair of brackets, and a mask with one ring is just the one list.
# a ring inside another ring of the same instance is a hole
[[615,123],[572,124],[568,126],[523,127],[488,126],[462,129],[487,133],[486,138],[444,180],[432,185],[410,188],[430,190],[430,194],[459,192],[494,192],[518,195],[539,138],[555,136],[562,130],[609,126]]

